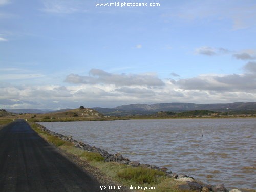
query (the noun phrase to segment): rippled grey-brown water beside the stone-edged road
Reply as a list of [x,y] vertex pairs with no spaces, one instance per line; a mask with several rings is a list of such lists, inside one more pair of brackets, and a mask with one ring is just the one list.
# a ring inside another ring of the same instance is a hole
[[109,153],[167,167],[208,184],[256,188],[256,118],[40,124]]

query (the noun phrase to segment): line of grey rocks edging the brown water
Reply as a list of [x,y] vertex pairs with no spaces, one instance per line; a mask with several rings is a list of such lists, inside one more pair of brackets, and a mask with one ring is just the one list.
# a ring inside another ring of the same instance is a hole
[[[39,124],[38,124],[39,125]],[[200,181],[196,181],[193,177],[190,177],[185,174],[177,174],[177,173],[172,173],[170,170],[168,170],[165,167],[157,167],[155,165],[149,165],[149,164],[141,164],[137,161],[131,161],[127,158],[124,158],[120,153],[117,154],[111,154],[105,151],[102,148],[97,148],[95,146],[90,146],[89,144],[79,142],[77,140],[74,140],[72,137],[68,137],[56,132],[53,132],[51,130],[48,130],[46,127],[39,125],[40,129],[44,130],[45,132],[54,135],[56,137],[59,137],[61,140],[69,141],[75,145],[77,148],[81,148],[84,151],[88,152],[96,152],[99,153],[104,157],[104,161],[106,162],[117,162],[117,163],[122,163],[122,164],[127,164],[133,167],[147,167],[155,170],[159,170],[162,172],[165,172],[166,176],[174,178],[177,181],[182,181],[184,184],[179,185],[179,188],[181,190],[196,190],[196,191],[202,191],[202,192],[228,192],[224,186],[224,184],[221,185],[208,185]],[[240,190],[237,189],[232,189],[230,192],[241,192]]]

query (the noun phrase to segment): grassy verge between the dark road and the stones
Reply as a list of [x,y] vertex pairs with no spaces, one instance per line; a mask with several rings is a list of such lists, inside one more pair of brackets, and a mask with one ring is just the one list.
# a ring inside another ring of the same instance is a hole
[[135,168],[116,162],[104,162],[104,158],[100,154],[95,152],[86,152],[76,148],[71,142],[63,141],[58,137],[52,136],[49,133],[42,131],[36,123],[30,123],[30,125],[32,129],[34,129],[46,141],[61,148],[61,150],[65,153],[75,155],[79,157],[81,161],[86,161],[92,167],[98,168],[102,175],[108,176],[114,182],[120,183],[122,186],[132,185],[136,186],[136,188],[138,186],[157,186],[157,190],[154,191],[180,191],[177,186],[181,183],[175,181],[172,178],[166,177],[164,172],[143,167]]

